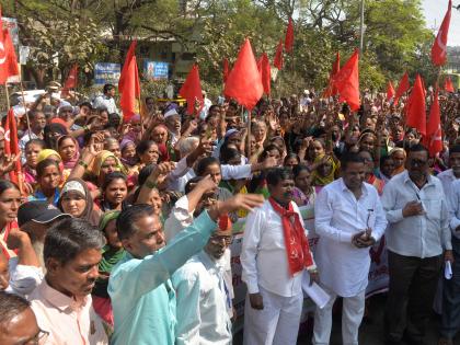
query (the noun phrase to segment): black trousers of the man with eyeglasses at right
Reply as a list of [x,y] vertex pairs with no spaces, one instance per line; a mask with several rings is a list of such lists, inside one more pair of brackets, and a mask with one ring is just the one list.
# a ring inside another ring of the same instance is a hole
[[419,258],[388,251],[390,289],[386,334],[389,341],[401,341],[404,331],[412,341],[423,340],[441,265],[442,255]]

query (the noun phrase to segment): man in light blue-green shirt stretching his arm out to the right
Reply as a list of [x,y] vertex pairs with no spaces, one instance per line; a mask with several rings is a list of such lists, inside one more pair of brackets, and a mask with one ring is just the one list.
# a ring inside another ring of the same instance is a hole
[[205,246],[219,215],[241,207],[252,209],[262,202],[260,196],[237,195],[217,203],[168,245],[151,206],[134,205],[122,211],[116,225],[127,254],[108,281],[115,320],[112,344],[173,345],[176,299],[171,275]]

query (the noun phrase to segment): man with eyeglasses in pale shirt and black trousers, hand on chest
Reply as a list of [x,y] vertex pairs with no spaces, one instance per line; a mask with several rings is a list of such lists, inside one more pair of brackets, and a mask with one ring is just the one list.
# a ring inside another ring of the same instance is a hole
[[389,222],[387,341],[401,344],[404,335],[422,344],[442,262],[453,262],[446,197],[428,173],[425,147],[409,149],[406,171],[386,185],[382,205]]

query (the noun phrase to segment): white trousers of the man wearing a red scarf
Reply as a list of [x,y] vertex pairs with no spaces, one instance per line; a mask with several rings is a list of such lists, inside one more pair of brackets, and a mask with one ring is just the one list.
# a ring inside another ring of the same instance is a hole
[[295,345],[299,333],[303,294],[283,297],[260,287],[263,310],[251,307],[249,295],[244,304],[243,345]]

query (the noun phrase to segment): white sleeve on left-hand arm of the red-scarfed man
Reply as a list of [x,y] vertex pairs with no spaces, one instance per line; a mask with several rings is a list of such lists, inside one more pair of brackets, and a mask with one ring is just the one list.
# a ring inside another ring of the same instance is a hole
[[263,219],[264,212],[261,208],[257,208],[249,214],[244,227],[240,260],[243,267],[242,280],[246,284],[250,294],[258,292],[256,257],[261,242],[262,227],[264,226]]

